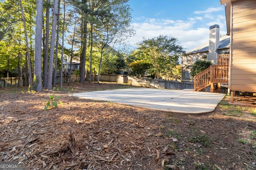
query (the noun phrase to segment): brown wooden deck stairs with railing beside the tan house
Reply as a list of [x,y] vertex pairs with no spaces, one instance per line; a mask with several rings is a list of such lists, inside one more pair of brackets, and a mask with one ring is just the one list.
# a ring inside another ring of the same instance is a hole
[[218,65],[211,65],[199,74],[194,76],[194,91],[201,91],[211,86],[211,92],[214,92],[214,85],[218,83],[228,83],[228,60],[229,54],[218,55]]

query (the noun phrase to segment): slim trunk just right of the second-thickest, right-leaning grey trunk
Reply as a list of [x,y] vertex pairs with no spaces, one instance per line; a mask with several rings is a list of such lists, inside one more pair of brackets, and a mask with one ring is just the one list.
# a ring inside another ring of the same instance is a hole
[[56,35],[56,47],[55,47],[55,61],[54,61],[53,84],[52,84],[54,87],[56,87],[56,76],[57,76],[59,29],[60,29],[60,0],[58,2],[57,35]]

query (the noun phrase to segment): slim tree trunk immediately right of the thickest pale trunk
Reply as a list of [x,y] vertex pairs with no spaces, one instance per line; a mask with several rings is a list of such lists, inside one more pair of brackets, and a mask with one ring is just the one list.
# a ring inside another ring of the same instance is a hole
[[47,76],[48,76],[48,53],[49,53],[49,27],[50,27],[50,0],[47,0],[46,6],[46,33],[45,33],[45,48],[44,48],[44,66],[43,66],[43,74],[44,74],[44,88],[47,86]]

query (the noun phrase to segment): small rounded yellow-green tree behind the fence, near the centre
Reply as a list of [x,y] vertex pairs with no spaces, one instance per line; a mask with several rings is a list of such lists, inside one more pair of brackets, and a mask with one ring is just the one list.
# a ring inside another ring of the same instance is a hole
[[144,60],[136,60],[130,63],[129,66],[132,69],[133,75],[144,76],[146,70],[150,69],[150,66],[152,65]]

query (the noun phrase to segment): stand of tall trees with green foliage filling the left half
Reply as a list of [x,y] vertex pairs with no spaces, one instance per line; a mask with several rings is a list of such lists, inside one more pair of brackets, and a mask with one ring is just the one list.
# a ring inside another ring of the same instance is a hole
[[[36,2],[40,2],[40,6]],[[44,2],[43,6],[42,2]],[[58,10],[57,2],[60,2]],[[41,82],[44,78],[44,88],[50,90],[52,88],[52,75],[54,76],[53,80],[55,80],[56,69],[61,65],[61,61],[57,60],[58,55],[60,55],[58,47],[56,48],[58,42],[54,41],[56,37],[56,16],[60,19],[58,28],[63,29],[60,34],[67,34],[66,37],[73,35],[72,30],[75,21],[77,21],[75,37],[69,39],[71,40],[70,44],[74,45],[70,54],[74,54],[73,57],[77,55],[78,59],[76,60],[81,61],[80,68],[83,69],[80,71],[80,76],[82,78],[85,77],[82,74],[84,74],[84,68],[86,67],[87,69],[90,68],[89,71],[93,74],[100,73],[100,64],[106,72],[120,72],[126,67],[124,55],[110,53],[109,49],[113,49],[117,44],[120,47],[124,40],[134,35],[134,29],[130,26],[132,20],[131,9],[126,2],[127,0],[66,0],[65,7],[67,8],[64,21],[64,15],[62,15],[62,12],[64,13],[64,0],[0,1],[0,72],[6,75],[9,75],[11,71],[18,72],[19,75],[25,75],[25,77],[32,75],[32,77],[35,77],[33,84],[38,91],[42,90]],[[26,53],[20,4],[24,7],[29,53]],[[36,16],[36,8],[38,7],[40,7],[40,17]],[[42,11],[43,15],[41,15]],[[36,24],[36,22],[39,24]],[[36,27],[40,25],[42,25],[42,35],[40,31],[35,31]],[[52,25],[52,27],[49,27],[49,25]],[[63,41],[66,41],[66,39],[62,39]],[[64,44],[68,44],[68,42],[62,43],[62,46]],[[48,50],[48,47],[50,47],[50,50]],[[56,49],[55,60],[53,60],[54,49]],[[41,55],[42,53],[43,55]],[[28,66],[30,62],[30,59],[26,57],[28,54],[31,56],[31,66]],[[88,57],[89,55],[90,57]],[[111,58],[110,61],[113,62],[110,62],[107,58]],[[44,61],[43,69],[40,61]],[[28,70],[33,70],[32,68],[34,68],[34,73],[28,74]],[[52,74],[53,69],[54,74]],[[44,76],[42,76],[42,70]],[[4,74],[3,76],[6,76]],[[84,79],[82,78],[80,82],[83,83]]]

